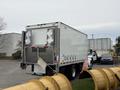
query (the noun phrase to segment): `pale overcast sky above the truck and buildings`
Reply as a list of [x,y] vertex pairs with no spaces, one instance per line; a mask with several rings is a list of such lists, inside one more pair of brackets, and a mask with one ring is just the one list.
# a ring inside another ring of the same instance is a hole
[[4,32],[19,32],[26,25],[64,22],[96,37],[120,35],[120,0],[0,0]]

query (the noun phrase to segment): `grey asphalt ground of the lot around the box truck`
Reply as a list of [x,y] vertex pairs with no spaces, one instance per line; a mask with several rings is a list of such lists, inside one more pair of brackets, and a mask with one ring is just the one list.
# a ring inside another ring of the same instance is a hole
[[[115,65],[94,65],[94,68],[113,66]],[[0,88],[7,88],[36,78],[40,78],[40,76],[32,75],[30,68],[27,70],[20,68],[20,61],[0,60]]]

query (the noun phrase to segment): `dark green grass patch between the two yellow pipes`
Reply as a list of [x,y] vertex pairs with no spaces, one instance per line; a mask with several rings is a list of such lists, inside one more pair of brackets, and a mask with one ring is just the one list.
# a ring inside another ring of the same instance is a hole
[[91,78],[75,79],[72,81],[73,90],[94,90],[94,83]]

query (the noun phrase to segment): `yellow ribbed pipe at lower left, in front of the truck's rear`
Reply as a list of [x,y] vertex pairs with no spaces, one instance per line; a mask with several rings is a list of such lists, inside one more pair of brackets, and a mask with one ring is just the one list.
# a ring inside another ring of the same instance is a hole
[[72,87],[64,75],[56,74],[51,77],[42,77],[39,80],[31,80],[27,83],[3,90],[72,90]]

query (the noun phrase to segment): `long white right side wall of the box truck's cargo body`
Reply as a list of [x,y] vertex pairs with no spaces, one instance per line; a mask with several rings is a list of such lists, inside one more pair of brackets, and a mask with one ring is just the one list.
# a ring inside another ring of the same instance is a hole
[[67,25],[60,25],[60,62],[83,62],[87,56],[87,35]]

